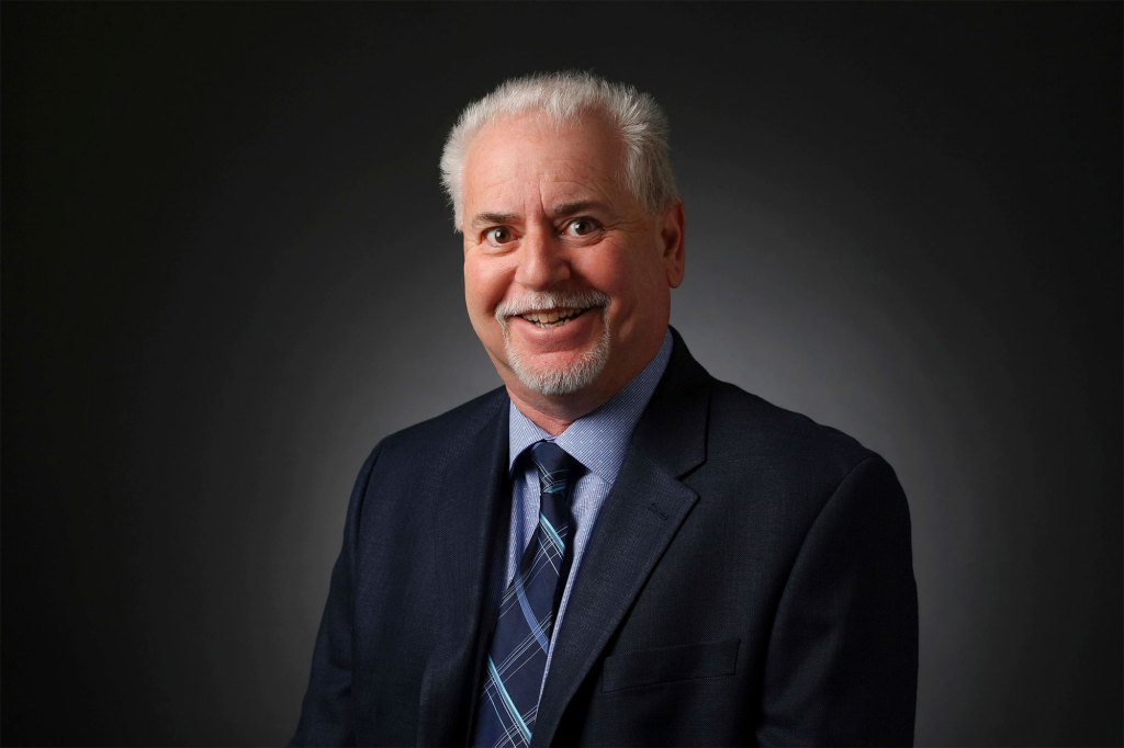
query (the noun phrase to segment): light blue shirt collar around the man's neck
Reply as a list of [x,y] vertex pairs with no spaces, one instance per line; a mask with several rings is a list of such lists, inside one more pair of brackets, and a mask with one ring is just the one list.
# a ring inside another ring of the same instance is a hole
[[625,459],[625,450],[633,428],[647,401],[655,392],[663,371],[671,358],[671,332],[663,336],[659,353],[632,382],[620,389],[611,399],[593,412],[582,416],[565,431],[552,438],[529,418],[510,403],[508,409],[508,469],[514,469],[515,460],[524,449],[546,439],[554,441],[570,453],[586,468],[613,485]]

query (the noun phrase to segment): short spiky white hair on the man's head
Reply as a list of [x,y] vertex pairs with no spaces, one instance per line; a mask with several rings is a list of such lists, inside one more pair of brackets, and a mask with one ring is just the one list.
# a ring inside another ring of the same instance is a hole
[[484,126],[529,111],[545,112],[555,124],[577,121],[599,112],[617,130],[625,146],[624,182],[650,211],[679,199],[671,171],[668,118],[650,94],[626,83],[610,83],[592,73],[537,73],[505,81],[456,120],[441,154],[441,181],[453,204],[453,228],[463,219],[464,156]]

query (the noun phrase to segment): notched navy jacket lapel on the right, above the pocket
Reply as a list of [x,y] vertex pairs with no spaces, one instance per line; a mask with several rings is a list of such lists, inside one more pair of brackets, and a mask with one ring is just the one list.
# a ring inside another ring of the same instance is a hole
[[578,569],[532,745],[554,739],[570,700],[698,501],[679,478],[705,459],[709,376],[678,335],[674,345]]

